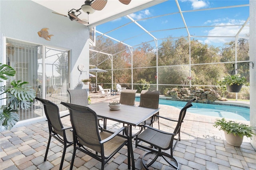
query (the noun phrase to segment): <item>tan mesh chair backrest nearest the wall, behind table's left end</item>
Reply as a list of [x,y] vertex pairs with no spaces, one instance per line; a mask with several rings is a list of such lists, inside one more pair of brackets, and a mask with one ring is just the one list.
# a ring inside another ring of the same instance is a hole
[[70,103],[75,105],[87,106],[88,103],[88,93],[86,89],[74,89],[68,90]]

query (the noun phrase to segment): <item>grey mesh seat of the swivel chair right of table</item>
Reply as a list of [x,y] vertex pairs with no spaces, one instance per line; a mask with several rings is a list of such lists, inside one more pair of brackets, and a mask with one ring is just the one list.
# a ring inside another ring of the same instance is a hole
[[161,149],[170,147],[172,136],[170,134],[159,133],[156,130],[146,128],[138,135],[138,139],[147,142]]

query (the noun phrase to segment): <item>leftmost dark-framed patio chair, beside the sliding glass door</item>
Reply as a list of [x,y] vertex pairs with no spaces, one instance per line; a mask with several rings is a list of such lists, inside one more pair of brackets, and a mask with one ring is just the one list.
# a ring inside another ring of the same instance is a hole
[[40,101],[44,105],[44,113],[46,115],[48,128],[49,128],[49,139],[48,139],[46,152],[44,155],[44,161],[46,161],[46,158],[47,158],[51,138],[54,137],[56,140],[58,140],[64,145],[64,149],[63,149],[63,153],[60,161],[60,170],[61,170],[64,162],[66,148],[73,144],[73,135],[72,135],[72,131],[70,131],[72,127],[64,127],[61,122],[61,118],[66,117],[69,114],[60,117],[60,112],[57,105],[55,105],[54,103],[48,100],[40,99],[38,97],[36,97],[35,99]]

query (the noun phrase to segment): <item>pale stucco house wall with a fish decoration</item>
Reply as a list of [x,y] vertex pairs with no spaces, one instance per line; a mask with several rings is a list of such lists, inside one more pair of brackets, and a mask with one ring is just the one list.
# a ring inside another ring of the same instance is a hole
[[[71,84],[78,83],[78,64],[84,64],[85,71],[80,79],[89,77],[89,30],[87,26],[69,18],[53,14],[52,10],[30,0],[0,0],[0,62],[5,62],[5,38],[47,45],[70,50]],[[51,41],[37,34],[42,28],[49,28]],[[87,85],[88,86],[88,85]],[[83,87],[85,88],[85,87]],[[86,87],[88,88],[88,87]]]

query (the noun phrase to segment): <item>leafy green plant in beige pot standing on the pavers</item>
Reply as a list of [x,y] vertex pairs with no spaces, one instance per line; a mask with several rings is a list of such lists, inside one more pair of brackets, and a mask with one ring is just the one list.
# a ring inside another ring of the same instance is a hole
[[226,121],[225,118],[216,119],[213,125],[214,127],[220,127],[219,130],[223,130],[225,138],[228,144],[233,146],[240,146],[243,142],[244,136],[251,138],[255,128],[243,123],[237,123],[234,121]]

